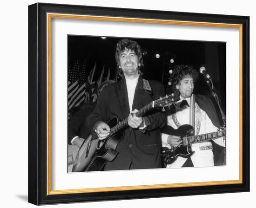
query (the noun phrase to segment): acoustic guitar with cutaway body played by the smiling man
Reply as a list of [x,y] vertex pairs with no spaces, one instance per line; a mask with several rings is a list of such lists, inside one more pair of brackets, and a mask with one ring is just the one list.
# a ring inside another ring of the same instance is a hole
[[[135,114],[137,117],[142,117],[153,108],[164,110],[165,107],[170,107],[178,100],[180,100],[178,93],[166,95],[141,108]],[[82,143],[75,158],[72,172],[99,171],[106,162],[111,162],[115,159],[118,153],[116,147],[124,135],[124,130],[128,127],[128,118],[120,122],[117,117],[114,117],[108,122],[108,126],[110,127],[110,133],[106,139],[94,139],[90,135]]]

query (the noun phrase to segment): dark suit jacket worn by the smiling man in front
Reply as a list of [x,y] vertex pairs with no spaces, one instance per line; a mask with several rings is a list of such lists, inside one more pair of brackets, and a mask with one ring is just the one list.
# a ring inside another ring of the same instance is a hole
[[[142,78],[139,78],[135,89],[133,110],[140,110],[153,100],[165,95],[164,87],[160,82],[152,80],[149,84],[153,95],[149,95],[143,89]],[[99,121],[108,122],[113,117],[124,120],[128,115],[128,92],[126,81],[123,79],[104,87],[86,124],[93,132],[95,123]],[[128,127],[116,148],[118,155],[112,162],[106,163],[104,170],[161,168],[160,128],[165,124],[164,115],[160,110],[153,109],[144,118],[147,125],[146,131],[142,133],[141,130]]]

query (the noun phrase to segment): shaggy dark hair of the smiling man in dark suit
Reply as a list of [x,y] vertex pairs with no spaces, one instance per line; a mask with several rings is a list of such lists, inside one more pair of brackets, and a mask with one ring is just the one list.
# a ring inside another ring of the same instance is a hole
[[140,75],[142,75],[142,71],[141,68],[144,66],[143,64],[143,59],[142,59],[142,50],[141,50],[141,46],[134,40],[131,39],[121,39],[119,40],[119,42],[116,45],[116,50],[115,50],[115,61],[117,64],[117,74],[119,77],[123,78],[124,74],[123,71],[119,68],[120,63],[119,63],[119,57],[120,54],[127,50],[130,49],[131,51],[135,52],[135,54],[138,57],[138,61],[139,61],[139,66],[138,66],[138,72]]

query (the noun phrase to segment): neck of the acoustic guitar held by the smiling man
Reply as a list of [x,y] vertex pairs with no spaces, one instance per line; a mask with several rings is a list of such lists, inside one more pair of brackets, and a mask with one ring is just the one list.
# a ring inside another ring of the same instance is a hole
[[[151,102],[150,104],[147,104],[146,106],[141,108],[141,110],[136,112],[135,113],[136,117],[142,117],[146,112],[148,112],[148,110],[151,110],[152,108],[154,108],[154,102],[155,101]],[[126,127],[128,127],[128,118],[124,119],[122,122],[118,123],[113,128],[111,128],[109,136],[114,135],[117,131],[124,129]]]

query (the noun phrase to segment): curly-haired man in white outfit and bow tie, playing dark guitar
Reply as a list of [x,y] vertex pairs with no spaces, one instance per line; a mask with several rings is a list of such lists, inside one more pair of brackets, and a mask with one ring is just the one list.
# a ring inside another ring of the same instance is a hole
[[[181,100],[177,102],[175,108],[168,111],[168,126],[177,130],[182,125],[190,124],[194,127],[195,135],[216,132],[220,128],[220,122],[210,98],[193,94],[194,83],[198,78],[197,71],[189,65],[177,65],[171,72],[171,88],[180,92]],[[177,148],[182,142],[180,136],[162,133],[163,147]],[[167,168],[223,165],[225,164],[224,146],[223,137],[193,143],[191,150],[194,154],[189,158],[177,156],[173,163],[167,164]]]

